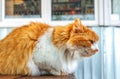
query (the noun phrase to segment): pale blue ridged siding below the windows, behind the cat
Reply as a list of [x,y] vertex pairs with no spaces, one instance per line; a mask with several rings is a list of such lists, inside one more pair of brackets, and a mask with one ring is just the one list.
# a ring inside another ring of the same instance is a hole
[[[13,28],[0,28],[0,39]],[[77,79],[120,79],[120,27],[92,27],[99,35],[99,53],[79,62]]]

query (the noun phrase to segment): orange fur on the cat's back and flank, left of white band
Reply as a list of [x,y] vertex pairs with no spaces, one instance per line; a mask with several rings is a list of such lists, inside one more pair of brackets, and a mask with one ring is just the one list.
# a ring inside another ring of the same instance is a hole
[[12,31],[0,42],[0,74],[29,75],[27,62],[38,37],[49,28],[46,24],[31,23]]

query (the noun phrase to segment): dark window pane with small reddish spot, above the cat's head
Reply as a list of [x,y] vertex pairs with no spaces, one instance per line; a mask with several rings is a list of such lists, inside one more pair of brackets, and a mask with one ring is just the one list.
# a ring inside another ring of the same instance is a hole
[[94,0],[52,0],[52,20],[94,20]]

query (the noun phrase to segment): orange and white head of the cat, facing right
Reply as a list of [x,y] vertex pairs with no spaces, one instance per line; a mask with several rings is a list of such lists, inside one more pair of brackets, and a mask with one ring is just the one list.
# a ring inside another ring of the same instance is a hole
[[67,48],[76,58],[89,57],[98,52],[98,35],[76,19],[71,27]]

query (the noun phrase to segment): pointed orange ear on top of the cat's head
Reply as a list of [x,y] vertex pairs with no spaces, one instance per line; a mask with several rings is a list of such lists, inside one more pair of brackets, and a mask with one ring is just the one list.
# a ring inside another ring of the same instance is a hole
[[75,33],[82,32],[83,31],[83,25],[79,18],[75,19],[73,24],[73,31]]

